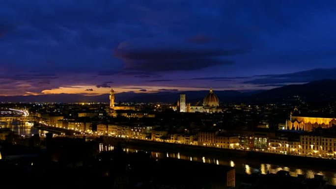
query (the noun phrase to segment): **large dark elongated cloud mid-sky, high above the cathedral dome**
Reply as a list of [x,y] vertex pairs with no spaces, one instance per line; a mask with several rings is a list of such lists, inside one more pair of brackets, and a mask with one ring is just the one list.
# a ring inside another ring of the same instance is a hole
[[233,61],[221,59],[221,56],[245,53],[244,50],[116,50],[114,55],[122,59],[126,68],[141,71],[198,70]]

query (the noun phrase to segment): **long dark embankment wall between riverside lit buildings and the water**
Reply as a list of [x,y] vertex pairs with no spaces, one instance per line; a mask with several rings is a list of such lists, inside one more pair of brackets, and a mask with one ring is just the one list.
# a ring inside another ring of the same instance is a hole
[[102,136],[100,138],[100,141],[104,144],[110,144],[110,145],[120,144],[121,147],[141,149],[152,152],[169,152],[169,153],[183,152],[184,154],[190,156],[211,156],[214,158],[221,158],[227,160],[232,159],[248,160],[249,162],[263,162],[270,164],[279,164],[283,166],[296,166],[296,167],[300,166],[307,169],[318,168],[325,171],[336,172],[336,160],[333,159],[292,156],[292,155],[273,154],[257,151],[212,148],[204,146],[155,142],[148,140],[136,140],[129,138],[116,138],[107,136]]

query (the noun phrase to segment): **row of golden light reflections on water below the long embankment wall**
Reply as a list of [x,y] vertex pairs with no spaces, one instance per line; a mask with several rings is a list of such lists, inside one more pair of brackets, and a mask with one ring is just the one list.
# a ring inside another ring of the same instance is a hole
[[[104,144],[101,144],[101,145],[104,145]],[[111,145],[107,145],[107,148],[111,150],[114,149],[113,146]],[[105,148],[102,148],[102,149],[105,149]],[[124,149],[124,151],[126,151],[127,153],[138,152],[138,150],[129,149],[129,148],[126,148],[126,150]],[[321,171],[317,169],[312,170],[312,169],[305,169],[305,168],[300,168],[300,167],[280,166],[280,165],[269,164],[269,163],[247,162],[246,160],[242,160],[242,159],[225,160],[225,159],[215,159],[215,158],[206,157],[206,156],[188,156],[180,152],[179,153],[149,152],[149,153],[151,154],[151,157],[154,157],[156,159],[169,157],[169,158],[178,158],[182,160],[232,166],[236,168],[237,173],[246,173],[246,174],[274,173],[276,174],[280,170],[285,170],[285,171],[288,171],[291,176],[298,177],[299,175],[305,175],[306,178],[310,178],[310,179],[314,178],[315,175],[323,175],[324,179],[328,180],[330,184],[336,186],[336,173],[331,172],[331,171]]]

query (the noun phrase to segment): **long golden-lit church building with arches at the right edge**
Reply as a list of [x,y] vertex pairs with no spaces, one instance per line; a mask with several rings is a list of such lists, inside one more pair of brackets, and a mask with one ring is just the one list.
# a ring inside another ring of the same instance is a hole
[[335,125],[335,118],[301,117],[291,115],[290,119],[286,121],[286,128],[288,130],[312,131],[314,128],[321,127],[325,129]]

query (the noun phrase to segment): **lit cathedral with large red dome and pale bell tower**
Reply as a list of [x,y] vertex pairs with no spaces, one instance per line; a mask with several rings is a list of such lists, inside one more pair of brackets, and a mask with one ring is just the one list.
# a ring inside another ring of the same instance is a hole
[[212,91],[212,88],[204,97],[202,106],[192,106],[190,103],[186,104],[186,95],[181,94],[175,110],[179,110],[180,112],[222,112],[222,108],[219,106],[219,99]]

